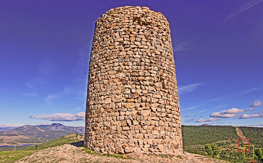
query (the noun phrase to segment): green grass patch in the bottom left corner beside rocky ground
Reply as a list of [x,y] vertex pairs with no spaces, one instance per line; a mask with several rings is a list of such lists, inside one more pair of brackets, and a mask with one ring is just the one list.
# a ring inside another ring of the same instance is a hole
[[0,152],[0,160],[1,160],[1,163],[12,163],[12,162],[20,160],[21,158],[31,155],[34,152],[35,150],[2,151]]

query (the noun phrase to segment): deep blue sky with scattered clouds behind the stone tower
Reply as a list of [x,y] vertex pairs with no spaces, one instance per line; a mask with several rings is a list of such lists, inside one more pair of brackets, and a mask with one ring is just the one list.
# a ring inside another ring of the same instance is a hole
[[101,14],[125,5],[170,24],[183,125],[263,126],[262,0],[1,0],[0,126],[84,126]]

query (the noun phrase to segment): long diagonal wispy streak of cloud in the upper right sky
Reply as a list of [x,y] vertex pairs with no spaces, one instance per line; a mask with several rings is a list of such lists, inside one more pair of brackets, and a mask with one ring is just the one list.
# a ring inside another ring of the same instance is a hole
[[173,51],[176,52],[176,51],[190,51],[190,50],[192,50],[191,48],[189,48],[187,46],[189,46],[190,44],[192,44],[196,40],[200,39],[201,37],[205,36],[206,34],[210,33],[216,27],[226,23],[227,21],[231,20],[232,18],[236,17],[237,15],[239,15],[242,12],[246,11],[247,9],[253,7],[254,5],[257,5],[261,1],[262,0],[252,0],[252,1],[247,2],[244,5],[240,5],[231,14],[229,14],[223,21],[221,21],[220,23],[216,24],[216,26],[214,26],[212,29],[210,29],[207,32],[201,34],[200,36],[191,38],[189,40],[186,40],[186,41],[183,41],[182,43],[177,44],[176,46],[173,47]]

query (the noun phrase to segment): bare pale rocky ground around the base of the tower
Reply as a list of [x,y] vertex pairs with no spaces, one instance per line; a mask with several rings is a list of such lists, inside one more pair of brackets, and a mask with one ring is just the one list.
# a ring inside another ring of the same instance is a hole
[[138,153],[130,153],[123,155],[102,155],[94,154],[85,150],[83,147],[76,147],[65,144],[53,148],[39,150],[30,156],[22,158],[16,163],[227,163],[226,161],[211,159],[201,155],[185,153],[183,156],[167,156],[167,155],[143,155]]

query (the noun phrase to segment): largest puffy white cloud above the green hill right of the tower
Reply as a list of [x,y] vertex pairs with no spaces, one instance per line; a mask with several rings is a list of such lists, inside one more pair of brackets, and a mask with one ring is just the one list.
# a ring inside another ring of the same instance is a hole
[[237,113],[244,113],[246,110],[244,109],[237,109],[237,108],[232,108],[228,110],[223,110],[219,112],[212,113],[209,115],[209,117],[214,117],[214,118],[234,118],[237,117]]

